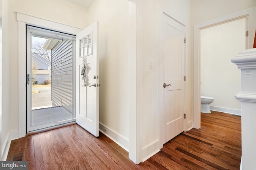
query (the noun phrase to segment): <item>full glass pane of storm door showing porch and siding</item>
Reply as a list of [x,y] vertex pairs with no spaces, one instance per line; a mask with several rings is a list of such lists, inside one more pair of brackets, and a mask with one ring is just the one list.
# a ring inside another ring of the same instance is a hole
[[72,40],[31,36],[28,132],[74,121],[72,46]]

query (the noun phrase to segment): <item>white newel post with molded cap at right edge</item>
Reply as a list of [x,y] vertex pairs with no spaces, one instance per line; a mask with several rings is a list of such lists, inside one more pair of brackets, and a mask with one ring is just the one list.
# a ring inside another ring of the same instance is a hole
[[232,60],[241,70],[242,162],[240,170],[256,168],[256,49],[238,53]]

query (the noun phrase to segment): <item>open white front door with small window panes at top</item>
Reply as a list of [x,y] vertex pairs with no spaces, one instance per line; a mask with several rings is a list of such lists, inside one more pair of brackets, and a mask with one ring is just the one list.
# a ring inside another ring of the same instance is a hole
[[99,136],[98,22],[76,35],[76,123]]

